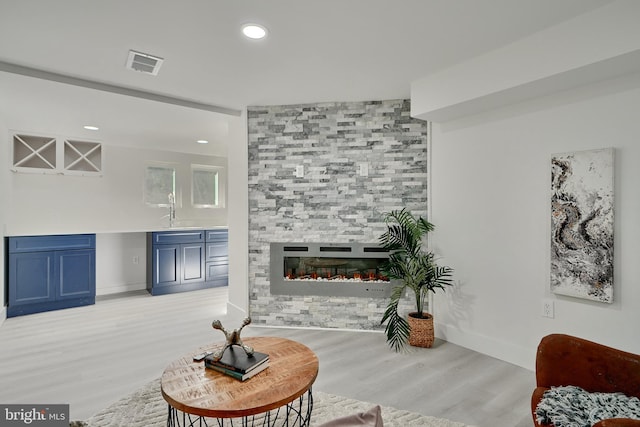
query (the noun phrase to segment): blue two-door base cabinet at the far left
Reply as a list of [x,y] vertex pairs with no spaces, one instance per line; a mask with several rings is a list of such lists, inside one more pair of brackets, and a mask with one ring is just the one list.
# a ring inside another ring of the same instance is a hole
[[7,237],[7,317],[95,304],[95,234]]

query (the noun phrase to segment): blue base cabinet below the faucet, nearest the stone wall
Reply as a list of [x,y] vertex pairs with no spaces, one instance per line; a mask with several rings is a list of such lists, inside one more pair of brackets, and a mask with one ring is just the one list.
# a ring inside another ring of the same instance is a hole
[[[226,236],[226,230],[224,234]],[[210,263],[220,260],[215,257],[209,260],[207,236],[207,230],[147,233],[147,290],[151,295],[228,284],[228,272],[213,274],[210,271]],[[224,257],[228,258],[226,241],[225,237]],[[221,251],[222,248],[218,248],[216,254]]]

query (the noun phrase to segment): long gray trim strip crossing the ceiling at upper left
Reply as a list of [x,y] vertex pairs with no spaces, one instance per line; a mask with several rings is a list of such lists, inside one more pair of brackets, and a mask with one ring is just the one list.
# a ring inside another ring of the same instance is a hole
[[226,114],[229,116],[240,117],[242,112],[232,108],[220,107],[218,105],[204,104],[184,98],[175,98],[167,95],[160,95],[153,92],[145,92],[138,89],[131,89],[122,86],[111,85],[108,83],[96,82],[93,80],[71,77],[64,74],[52,73],[50,71],[39,70],[37,68],[24,67],[9,62],[0,61],[0,71],[7,73],[19,74],[37,79],[49,80],[58,83],[64,83],[73,86],[84,87],[88,89],[101,90],[103,92],[116,93],[119,95],[131,96],[134,98],[147,99],[149,101],[162,102],[165,104],[179,105],[181,107],[194,108],[196,110],[211,111],[213,113]]

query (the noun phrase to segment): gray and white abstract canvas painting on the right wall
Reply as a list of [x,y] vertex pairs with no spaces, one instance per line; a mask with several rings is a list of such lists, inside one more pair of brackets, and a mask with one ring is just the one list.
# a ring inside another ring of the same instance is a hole
[[613,302],[613,148],[551,158],[551,292]]

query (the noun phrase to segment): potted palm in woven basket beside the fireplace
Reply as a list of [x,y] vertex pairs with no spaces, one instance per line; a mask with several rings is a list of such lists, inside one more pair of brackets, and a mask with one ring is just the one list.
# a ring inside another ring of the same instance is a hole
[[[424,311],[424,305],[429,292],[444,291],[445,286],[451,285],[453,270],[438,266],[433,252],[423,249],[425,237],[434,229],[433,224],[422,217],[415,218],[406,209],[386,213],[384,220],[387,231],[380,236],[379,242],[390,253],[382,270],[397,283],[381,321],[387,322],[387,343],[395,351],[404,349],[407,341],[413,346],[431,347],[433,316]],[[406,290],[413,292],[416,304],[416,311],[409,313],[408,319],[398,312]]]

